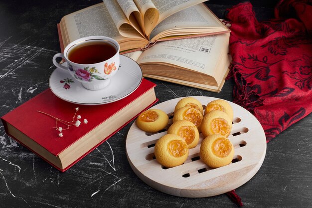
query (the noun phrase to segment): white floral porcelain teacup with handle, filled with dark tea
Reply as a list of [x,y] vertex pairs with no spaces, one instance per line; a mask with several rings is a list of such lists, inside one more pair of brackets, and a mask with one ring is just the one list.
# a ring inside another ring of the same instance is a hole
[[[64,53],[53,57],[53,64],[68,72],[89,90],[103,89],[109,85],[120,64],[120,46],[112,38],[89,36],[68,44]],[[67,67],[59,64],[56,58],[64,58]]]

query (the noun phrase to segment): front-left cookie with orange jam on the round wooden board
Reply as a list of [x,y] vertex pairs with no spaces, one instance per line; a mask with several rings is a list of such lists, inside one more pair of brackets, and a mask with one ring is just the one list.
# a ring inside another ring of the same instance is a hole
[[155,157],[158,163],[166,168],[172,168],[185,162],[188,147],[184,139],[175,134],[160,137],[155,144]]

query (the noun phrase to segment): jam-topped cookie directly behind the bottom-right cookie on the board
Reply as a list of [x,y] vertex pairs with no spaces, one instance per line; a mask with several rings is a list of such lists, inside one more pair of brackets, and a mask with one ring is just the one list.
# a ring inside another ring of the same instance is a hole
[[214,110],[205,114],[201,122],[201,133],[204,137],[221,134],[228,137],[231,133],[232,121],[223,111]]

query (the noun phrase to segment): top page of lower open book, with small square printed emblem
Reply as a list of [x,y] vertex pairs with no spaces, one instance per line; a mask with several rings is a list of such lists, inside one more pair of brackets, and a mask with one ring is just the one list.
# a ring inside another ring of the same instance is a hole
[[163,62],[213,75],[229,33],[157,42],[143,51],[138,63]]

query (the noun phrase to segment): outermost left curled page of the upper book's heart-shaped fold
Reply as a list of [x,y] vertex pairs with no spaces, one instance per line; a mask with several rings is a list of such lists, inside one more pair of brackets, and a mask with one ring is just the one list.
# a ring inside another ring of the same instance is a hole
[[121,35],[129,38],[145,37],[137,21],[130,22],[116,0],[103,0]]

